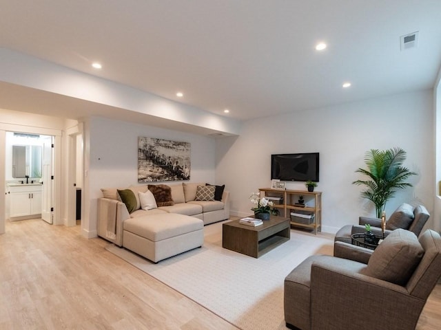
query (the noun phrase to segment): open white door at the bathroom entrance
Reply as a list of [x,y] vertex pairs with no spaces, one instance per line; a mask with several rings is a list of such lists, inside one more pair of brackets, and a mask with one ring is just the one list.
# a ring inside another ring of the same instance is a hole
[[43,186],[41,190],[41,219],[48,223],[54,222],[54,208],[52,205],[53,179],[53,141],[54,137],[48,136],[43,142]]

